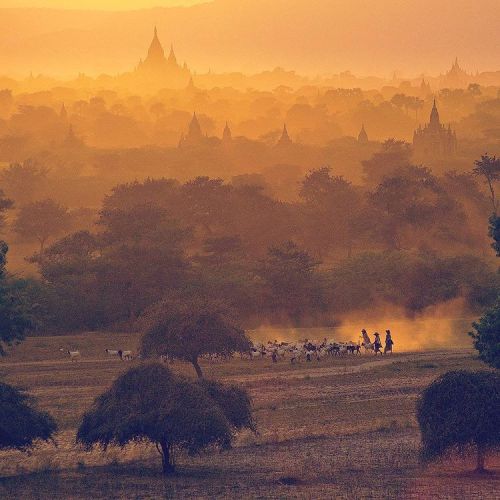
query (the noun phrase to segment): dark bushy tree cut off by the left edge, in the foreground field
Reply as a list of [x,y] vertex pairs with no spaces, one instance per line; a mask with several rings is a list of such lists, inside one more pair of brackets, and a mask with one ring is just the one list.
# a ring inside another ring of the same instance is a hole
[[0,448],[26,451],[38,440],[51,439],[56,430],[55,420],[33,398],[0,382]]

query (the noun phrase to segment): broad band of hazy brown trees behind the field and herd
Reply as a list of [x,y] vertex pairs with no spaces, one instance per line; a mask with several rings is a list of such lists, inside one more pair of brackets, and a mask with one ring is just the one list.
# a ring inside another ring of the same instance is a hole
[[[488,161],[498,163],[485,156],[478,165]],[[491,200],[473,172],[436,176],[394,140],[363,166],[363,186],[327,167],[311,171],[293,203],[207,177],[116,186],[92,230],[44,240],[32,257],[43,327],[131,326],[168,297],[220,299],[245,325],[325,324],[378,303],[410,314],[456,297],[473,310],[492,305],[500,277],[488,259]],[[58,221],[58,234],[64,210],[32,204],[14,229],[24,220],[50,233]]]

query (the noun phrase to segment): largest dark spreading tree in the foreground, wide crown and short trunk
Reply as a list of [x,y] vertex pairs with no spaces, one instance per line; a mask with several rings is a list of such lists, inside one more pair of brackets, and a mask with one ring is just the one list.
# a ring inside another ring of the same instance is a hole
[[[174,375],[160,363],[132,368],[95,400],[83,417],[77,441],[87,449],[105,449],[149,440],[162,455],[163,472],[172,473],[175,450],[196,454],[210,446],[225,449],[231,444],[232,428],[249,426],[241,416],[232,421],[226,417],[237,414],[235,403],[220,406],[207,387]],[[247,405],[240,415],[249,414],[248,397],[240,399]],[[250,422],[251,416],[247,418]]]

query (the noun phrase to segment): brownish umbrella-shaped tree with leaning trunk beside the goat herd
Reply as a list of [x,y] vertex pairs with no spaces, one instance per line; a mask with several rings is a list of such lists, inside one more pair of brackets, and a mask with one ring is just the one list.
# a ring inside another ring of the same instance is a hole
[[250,349],[245,331],[230,318],[226,308],[214,301],[163,301],[145,317],[141,342],[145,357],[168,356],[191,363],[203,377],[199,359],[204,355],[231,356]]

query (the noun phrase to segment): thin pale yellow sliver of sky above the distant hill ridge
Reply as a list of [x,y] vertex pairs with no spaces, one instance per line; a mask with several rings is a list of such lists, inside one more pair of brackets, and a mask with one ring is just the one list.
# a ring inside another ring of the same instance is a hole
[[2,0],[1,7],[130,10],[150,7],[187,6],[207,1],[209,0]]

